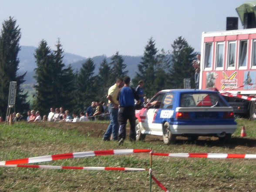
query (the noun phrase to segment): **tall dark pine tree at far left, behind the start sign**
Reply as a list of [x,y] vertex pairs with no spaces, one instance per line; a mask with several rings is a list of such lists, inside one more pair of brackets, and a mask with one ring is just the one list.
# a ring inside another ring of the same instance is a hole
[[16,26],[16,20],[13,17],[5,20],[2,27],[0,34],[0,115],[5,117],[10,81],[17,81],[16,111],[24,114],[28,110],[29,104],[26,103],[27,93],[24,94],[24,90],[21,88],[26,73],[17,75],[20,62],[18,59],[20,28]]

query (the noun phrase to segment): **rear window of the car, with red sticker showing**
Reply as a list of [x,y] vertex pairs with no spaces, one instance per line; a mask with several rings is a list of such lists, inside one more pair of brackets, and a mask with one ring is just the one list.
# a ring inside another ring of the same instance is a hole
[[184,93],[180,99],[181,107],[227,107],[217,93]]

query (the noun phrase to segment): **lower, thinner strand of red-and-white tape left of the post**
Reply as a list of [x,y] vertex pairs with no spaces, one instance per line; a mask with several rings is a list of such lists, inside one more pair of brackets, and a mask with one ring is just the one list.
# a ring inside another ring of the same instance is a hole
[[0,165],[0,167],[24,167],[24,168],[46,168],[46,169],[82,169],[82,170],[112,170],[112,171],[147,171],[146,168],[129,167],[75,167],[55,165]]

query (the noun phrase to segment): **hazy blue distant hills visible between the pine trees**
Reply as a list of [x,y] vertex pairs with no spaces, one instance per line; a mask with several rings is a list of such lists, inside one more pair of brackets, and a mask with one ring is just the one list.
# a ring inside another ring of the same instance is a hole
[[[27,71],[27,74],[25,76],[25,81],[24,84],[34,84],[34,68],[36,68],[36,63],[35,63],[35,50],[37,47],[32,47],[32,46],[21,46],[21,49],[19,51],[18,57],[20,59],[20,64],[19,64],[19,70],[18,74],[24,74]],[[88,58],[81,57],[79,55],[75,54],[70,54],[64,52],[64,64],[67,66],[71,64],[72,68],[76,70],[80,70],[82,64],[87,61]],[[132,78],[135,76],[135,71],[138,69],[137,65],[141,62],[141,57],[142,56],[123,56],[124,63],[127,64],[127,67],[125,70],[128,70],[128,75]],[[107,62],[111,62],[111,57],[106,57],[105,55],[101,56],[96,56],[92,57],[92,60],[94,61],[95,64],[95,70],[94,73],[98,74],[98,69],[100,67],[101,62],[103,59],[106,58]]]

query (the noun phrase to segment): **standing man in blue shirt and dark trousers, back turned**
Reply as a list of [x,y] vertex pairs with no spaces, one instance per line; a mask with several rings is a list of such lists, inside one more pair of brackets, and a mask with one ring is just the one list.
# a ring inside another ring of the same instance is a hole
[[134,99],[140,102],[138,95],[135,90],[130,88],[130,77],[125,77],[124,82],[125,86],[121,88],[118,92],[118,101],[120,104],[120,109],[118,111],[118,123],[119,123],[119,136],[118,136],[118,145],[123,144],[126,137],[126,123],[127,120],[130,122],[130,132],[129,138],[130,141],[136,140],[136,131],[135,131],[135,108],[134,108]]

